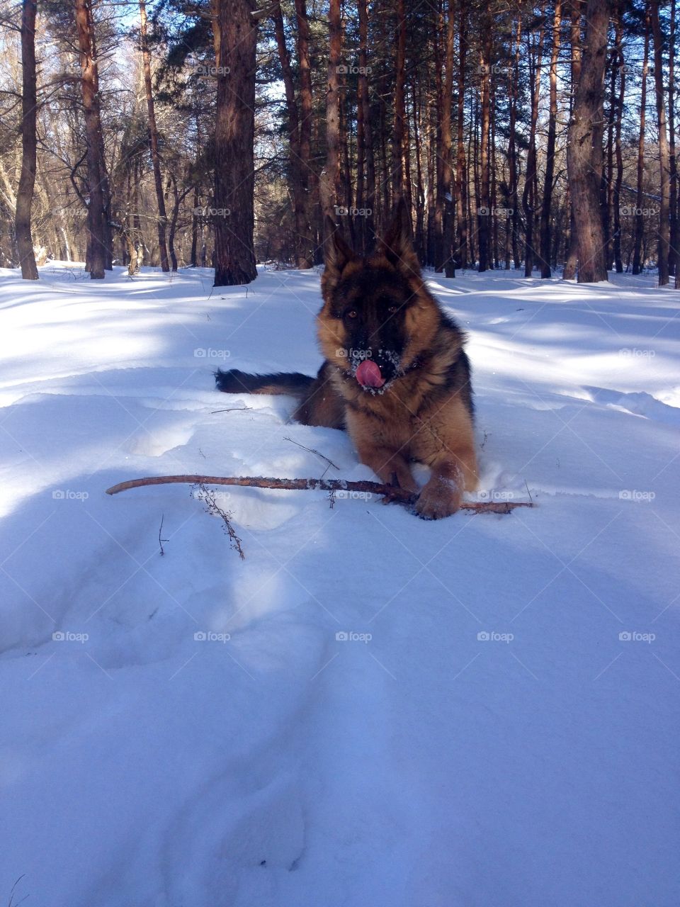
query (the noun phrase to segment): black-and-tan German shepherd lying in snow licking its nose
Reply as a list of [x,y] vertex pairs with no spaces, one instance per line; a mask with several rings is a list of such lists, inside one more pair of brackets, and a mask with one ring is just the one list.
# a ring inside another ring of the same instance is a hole
[[[217,386],[295,396],[297,422],[346,428],[381,482],[418,494],[423,519],[449,516],[478,482],[465,335],[423,283],[403,201],[369,258],[348,248],[330,218],[326,230],[316,378],[219,370]],[[422,491],[413,461],[432,470]]]

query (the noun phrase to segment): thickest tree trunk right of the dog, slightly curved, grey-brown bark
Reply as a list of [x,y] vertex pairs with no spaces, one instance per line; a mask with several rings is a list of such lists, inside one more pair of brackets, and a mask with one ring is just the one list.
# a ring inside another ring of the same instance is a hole
[[[607,63],[608,0],[588,0],[581,75],[569,123],[567,169],[578,238],[578,282],[607,280],[599,206],[602,127]],[[599,124],[599,128],[598,128]]]

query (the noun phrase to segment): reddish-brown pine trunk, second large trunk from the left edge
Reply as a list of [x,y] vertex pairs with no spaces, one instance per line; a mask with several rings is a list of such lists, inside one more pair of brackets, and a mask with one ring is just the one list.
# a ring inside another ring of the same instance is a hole
[[92,9],[90,0],[75,0],[75,24],[80,50],[81,85],[83,91],[83,112],[85,118],[85,143],[87,147],[87,181],[89,203],[87,206],[88,250],[86,268],[92,279],[101,280],[106,267],[106,246],[104,237],[104,200],[102,180],[104,161],[101,158],[102,118],[97,74],[97,59],[93,53]]

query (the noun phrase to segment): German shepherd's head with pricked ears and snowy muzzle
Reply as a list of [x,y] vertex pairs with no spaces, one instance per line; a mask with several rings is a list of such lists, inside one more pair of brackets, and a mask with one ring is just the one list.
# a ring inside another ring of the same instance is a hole
[[403,201],[370,258],[355,255],[326,223],[324,307],[319,339],[330,362],[369,393],[382,393],[413,366],[437,321],[423,286]]

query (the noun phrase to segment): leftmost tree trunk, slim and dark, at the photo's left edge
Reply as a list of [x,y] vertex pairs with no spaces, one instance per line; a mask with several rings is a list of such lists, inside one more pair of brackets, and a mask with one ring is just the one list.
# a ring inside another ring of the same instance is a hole
[[35,0],[24,0],[21,17],[22,121],[21,176],[16,190],[15,236],[21,276],[37,280],[33,237],[31,235],[31,202],[35,185]]

